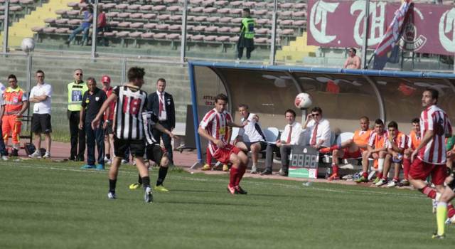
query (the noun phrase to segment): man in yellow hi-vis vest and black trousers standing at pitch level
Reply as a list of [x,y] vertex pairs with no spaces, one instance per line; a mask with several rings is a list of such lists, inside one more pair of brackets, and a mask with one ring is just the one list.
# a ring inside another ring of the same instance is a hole
[[[68,83],[68,120],[70,120],[71,150],[70,160],[84,161],[85,130],[79,129],[79,115],[82,104],[82,95],[88,90],[82,80],[82,69],[74,70],[74,81]],[[77,140],[79,149],[77,150]],[[76,151],[77,150],[77,151]]]

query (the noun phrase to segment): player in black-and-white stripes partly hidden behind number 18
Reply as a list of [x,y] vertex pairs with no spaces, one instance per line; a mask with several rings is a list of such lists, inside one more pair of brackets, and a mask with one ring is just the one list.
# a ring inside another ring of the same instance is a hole
[[[164,128],[164,126],[159,123],[158,117],[156,117],[152,111],[142,112],[142,120],[144,120],[146,159],[154,161],[159,165],[158,179],[156,180],[154,190],[168,192],[168,189],[163,186],[163,183],[164,179],[166,179],[166,175],[168,174],[169,157],[166,149],[162,148],[159,145],[159,142],[156,142],[153,132],[154,129],[158,129],[160,132],[168,134],[169,137],[173,139],[178,139],[178,137],[168,129]],[[137,183],[129,185],[129,189],[138,189],[141,184],[142,178],[141,175],[139,175]]]

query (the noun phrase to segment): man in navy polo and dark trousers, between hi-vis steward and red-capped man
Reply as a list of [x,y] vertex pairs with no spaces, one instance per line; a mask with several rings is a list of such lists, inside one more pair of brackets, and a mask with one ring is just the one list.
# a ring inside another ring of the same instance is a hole
[[[85,127],[87,135],[87,164],[81,169],[105,169],[105,143],[102,122],[92,127],[92,121],[95,120],[102,104],[107,100],[106,93],[97,88],[95,78],[87,78],[87,92],[82,96],[82,109],[80,110],[79,129]],[[107,109],[109,112],[109,109]],[[98,164],[95,165],[95,144],[98,149]]]

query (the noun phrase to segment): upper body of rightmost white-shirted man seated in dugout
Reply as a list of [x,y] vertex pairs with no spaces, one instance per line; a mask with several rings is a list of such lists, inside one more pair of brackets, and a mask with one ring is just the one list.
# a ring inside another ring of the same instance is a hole
[[303,131],[310,134],[309,144],[315,149],[330,147],[330,122],[322,117],[321,107],[313,107],[309,115],[306,116]]

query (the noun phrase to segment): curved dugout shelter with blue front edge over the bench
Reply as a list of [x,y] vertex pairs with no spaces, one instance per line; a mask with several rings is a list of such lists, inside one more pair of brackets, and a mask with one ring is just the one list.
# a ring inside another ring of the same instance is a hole
[[[422,92],[434,88],[439,92],[438,105],[455,124],[455,74],[451,73],[190,61],[188,74],[192,106],[188,107],[187,127],[192,119],[189,127],[193,131],[186,136],[195,134],[198,163],[206,144],[201,144],[198,125],[205,112],[213,108],[218,93],[228,95],[228,111],[235,121],[240,119],[237,106],[247,104],[250,112],[259,115],[263,129],[283,129],[284,112],[289,108],[297,116],[303,113],[294,107],[294,98],[299,92],[307,92],[313,100],[311,107],[322,108],[334,132],[353,132],[365,115],[370,118],[370,126],[378,118],[386,125],[394,120],[402,132],[409,133],[412,118],[422,112]],[[303,115],[301,119],[296,117],[298,122],[303,120]]]

